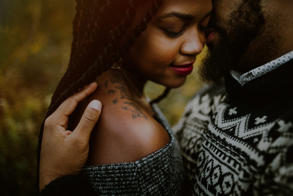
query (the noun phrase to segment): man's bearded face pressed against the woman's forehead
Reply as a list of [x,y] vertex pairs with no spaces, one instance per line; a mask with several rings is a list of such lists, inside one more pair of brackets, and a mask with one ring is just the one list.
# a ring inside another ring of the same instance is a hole
[[247,72],[262,65],[272,40],[260,0],[214,0],[207,34],[209,53],[200,69],[206,81],[219,82],[230,70]]

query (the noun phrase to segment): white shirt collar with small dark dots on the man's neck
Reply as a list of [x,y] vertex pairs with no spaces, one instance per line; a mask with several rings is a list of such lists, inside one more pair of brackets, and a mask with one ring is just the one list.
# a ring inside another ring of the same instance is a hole
[[234,77],[235,80],[237,80],[241,86],[245,85],[247,82],[260,77],[262,75],[265,75],[268,72],[271,72],[272,70],[276,69],[280,65],[285,64],[289,60],[293,59],[293,51],[275,59],[271,62],[266,63],[265,65],[262,65],[260,67],[257,67],[253,70],[250,70],[249,72],[246,72],[245,74],[241,74],[240,72],[232,70],[230,73],[232,77]]

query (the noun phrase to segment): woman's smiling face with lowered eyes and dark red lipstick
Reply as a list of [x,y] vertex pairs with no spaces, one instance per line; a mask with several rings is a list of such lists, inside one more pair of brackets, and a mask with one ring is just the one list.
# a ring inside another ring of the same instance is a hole
[[[149,5],[138,7],[132,27],[141,21]],[[122,66],[142,81],[179,87],[202,51],[211,10],[211,0],[164,0]]]

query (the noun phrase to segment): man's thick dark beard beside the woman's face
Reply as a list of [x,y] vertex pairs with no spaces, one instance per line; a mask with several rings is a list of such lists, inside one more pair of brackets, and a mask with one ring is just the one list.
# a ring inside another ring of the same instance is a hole
[[255,0],[243,1],[231,13],[224,27],[213,24],[211,19],[211,26],[218,31],[219,40],[202,61],[199,70],[202,79],[219,83],[231,70],[241,70],[240,59],[264,24],[260,2]]

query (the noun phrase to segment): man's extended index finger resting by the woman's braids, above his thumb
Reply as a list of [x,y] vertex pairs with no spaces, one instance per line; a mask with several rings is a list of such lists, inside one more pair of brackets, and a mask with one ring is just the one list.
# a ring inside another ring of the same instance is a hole
[[69,116],[72,114],[77,104],[81,102],[88,95],[92,94],[98,87],[96,82],[91,83],[90,85],[84,87],[79,92],[73,94],[71,97],[67,98],[62,104],[56,109],[58,115]]

